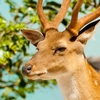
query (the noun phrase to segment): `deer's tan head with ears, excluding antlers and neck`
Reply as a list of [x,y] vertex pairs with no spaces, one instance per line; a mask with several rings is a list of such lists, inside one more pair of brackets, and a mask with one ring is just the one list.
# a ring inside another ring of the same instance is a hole
[[[90,30],[93,30],[93,28],[90,28],[88,31]],[[34,39],[35,31],[23,30],[24,36],[27,36],[29,40],[31,37],[30,41],[32,43],[40,40],[38,44],[36,43],[38,52],[25,64],[22,69],[23,74],[33,80],[48,80],[56,79],[59,75],[66,72],[72,72],[73,67],[77,64],[76,61],[79,62],[83,55],[84,45],[91,36],[88,31],[73,37],[68,30],[64,32],[49,30],[45,38],[43,38],[41,33],[38,33],[41,36],[38,35]]]

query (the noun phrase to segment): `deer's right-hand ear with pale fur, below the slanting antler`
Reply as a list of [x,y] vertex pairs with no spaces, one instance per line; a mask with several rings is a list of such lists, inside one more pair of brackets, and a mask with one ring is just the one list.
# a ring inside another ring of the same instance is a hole
[[82,44],[86,44],[90,37],[93,35],[98,24],[100,24],[100,22],[92,27],[90,26],[88,29],[81,32],[80,35],[77,37],[77,41],[80,41]]

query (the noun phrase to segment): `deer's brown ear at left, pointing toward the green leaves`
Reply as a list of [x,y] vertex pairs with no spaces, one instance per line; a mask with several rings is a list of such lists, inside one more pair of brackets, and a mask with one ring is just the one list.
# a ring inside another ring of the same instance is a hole
[[33,45],[36,45],[39,41],[42,41],[44,39],[43,34],[39,31],[28,29],[23,29],[21,31],[24,37],[29,40]]

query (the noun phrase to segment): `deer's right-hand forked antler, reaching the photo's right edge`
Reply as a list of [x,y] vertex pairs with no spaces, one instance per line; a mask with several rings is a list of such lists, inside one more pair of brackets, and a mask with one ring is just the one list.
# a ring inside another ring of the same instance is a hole
[[74,7],[73,13],[72,13],[72,20],[70,25],[67,27],[69,31],[71,31],[75,36],[78,35],[78,32],[80,29],[86,25],[88,22],[96,19],[97,17],[100,16],[100,7],[94,11],[93,13],[87,14],[86,16],[80,18],[78,20],[78,11],[82,5],[83,0],[79,0]]

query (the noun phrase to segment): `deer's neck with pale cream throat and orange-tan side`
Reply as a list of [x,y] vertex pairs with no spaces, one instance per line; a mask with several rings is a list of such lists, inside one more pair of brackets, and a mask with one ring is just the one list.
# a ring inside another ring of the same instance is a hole
[[100,79],[98,80],[99,76],[88,64],[87,60],[83,61],[84,62],[80,62],[80,64],[78,63],[78,69],[74,71],[74,73],[68,72],[57,78],[57,83],[62,91],[64,100],[100,99],[100,96],[96,96],[97,93],[94,91],[96,89],[96,91],[98,90],[98,93],[100,93]]

